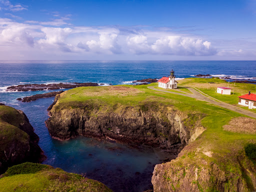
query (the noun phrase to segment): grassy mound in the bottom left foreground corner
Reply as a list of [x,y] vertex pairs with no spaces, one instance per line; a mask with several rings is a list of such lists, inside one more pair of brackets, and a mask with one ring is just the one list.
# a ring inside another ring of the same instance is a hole
[[49,165],[36,163],[24,165],[24,163],[22,163],[15,165],[12,169],[22,170],[22,174],[15,173],[14,175],[0,178],[0,191],[2,192],[111,191],[104,184],[96,180],[84,178],[79,174],[68,173],[60,168],[54,169]]

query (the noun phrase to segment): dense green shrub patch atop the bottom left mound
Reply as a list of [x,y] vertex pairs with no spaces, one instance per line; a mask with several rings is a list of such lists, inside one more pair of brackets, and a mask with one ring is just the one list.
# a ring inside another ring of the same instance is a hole
[[8,174],[8,176],[11,176],[14,174],[28,174],[28,173],[35,173],[39,170],[42,170],[43,168],[48,168],[48,166],[45,164],[24,162],[24,163],[9,167],[6,170],[6,173]]

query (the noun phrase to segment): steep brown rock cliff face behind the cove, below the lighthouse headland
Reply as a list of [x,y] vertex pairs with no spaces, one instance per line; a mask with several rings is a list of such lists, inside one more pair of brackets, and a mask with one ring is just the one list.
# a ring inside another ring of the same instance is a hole
[[189,123],[187,114],[156,101],[145,101],[140,106],[118,104],[114,109],[89,101],[79,108],[61,108],[57,100],[60,95],[46,120],[50,135],[60,140],[84,135],[170,150],[182,148],[201,127],[199,119]]

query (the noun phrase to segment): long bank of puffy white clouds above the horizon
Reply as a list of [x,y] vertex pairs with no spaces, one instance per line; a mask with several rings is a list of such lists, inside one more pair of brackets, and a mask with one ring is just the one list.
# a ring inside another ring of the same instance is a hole
[[[49,21],[50,22],[50,21]],[[53,23],[52,23],[53,24]],[[174,34],[163,29],[104,26],[48,26],[47,22],[20,23],[0,18],[0,44],[23,50],[33,47],[49,54],[151,54],[214,55],[216,49],[208,40]],[[53,24],[54,25],[54,24]],[[0,51],[4,48],[0,47]],[[27,53],[29,54],[29,52]]]

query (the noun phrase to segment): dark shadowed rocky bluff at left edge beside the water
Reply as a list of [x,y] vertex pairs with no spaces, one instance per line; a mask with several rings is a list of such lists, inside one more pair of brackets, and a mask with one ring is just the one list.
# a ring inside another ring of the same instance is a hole
[[21,110],[0,106],[0,173],[14,164],[44,160],[38,140]]

